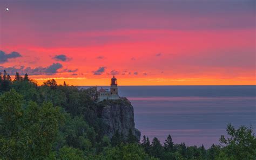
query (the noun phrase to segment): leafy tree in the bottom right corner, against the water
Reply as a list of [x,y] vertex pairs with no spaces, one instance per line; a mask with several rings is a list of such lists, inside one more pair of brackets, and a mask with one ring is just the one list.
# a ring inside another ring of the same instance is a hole
[[220,143],[227,157],[231,159],[255,159],[256,138],[252,127],[241,126],[235,129],[231,124],[227,125],[227,135],[220,137]]

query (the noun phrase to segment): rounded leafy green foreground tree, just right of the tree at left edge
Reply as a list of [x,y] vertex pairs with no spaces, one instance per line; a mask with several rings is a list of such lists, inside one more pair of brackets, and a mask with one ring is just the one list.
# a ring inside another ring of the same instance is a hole
[[28,146],[24,149],[24,159],[41,159],[49,156],[52,144],[56,139],[59,123],[63,121],[59,107],[52,103],[43,103],[38,106],[30,102],[23,116],[22,136]]

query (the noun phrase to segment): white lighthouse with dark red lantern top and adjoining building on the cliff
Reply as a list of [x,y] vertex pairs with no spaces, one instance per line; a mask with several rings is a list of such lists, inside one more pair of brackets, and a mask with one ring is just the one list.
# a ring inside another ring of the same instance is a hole
[[98,92],[99,101],[120,99],[118,96],[117,79],[114,78],[114,76],[111,79],[110,91],[108,91],[108,89],[100,88]]

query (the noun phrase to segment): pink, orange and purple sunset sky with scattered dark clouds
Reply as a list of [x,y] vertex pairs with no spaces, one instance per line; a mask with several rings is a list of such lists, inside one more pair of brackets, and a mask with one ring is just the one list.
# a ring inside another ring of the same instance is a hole
[[[5,8],[8,7],[9,11]],[[0,1],[0,72],[38,84],[256,85],[255,1]]]

